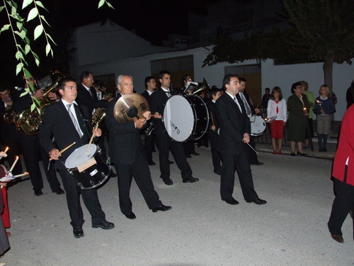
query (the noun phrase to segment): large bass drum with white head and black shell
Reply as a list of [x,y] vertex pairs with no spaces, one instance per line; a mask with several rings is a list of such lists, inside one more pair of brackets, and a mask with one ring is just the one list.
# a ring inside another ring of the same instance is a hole
[[164,126],[172,140],[199,140],[207,132],[209,112],[198,95],[173,95],[166,101]]

